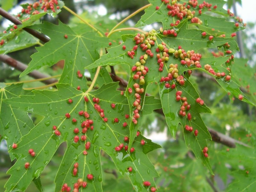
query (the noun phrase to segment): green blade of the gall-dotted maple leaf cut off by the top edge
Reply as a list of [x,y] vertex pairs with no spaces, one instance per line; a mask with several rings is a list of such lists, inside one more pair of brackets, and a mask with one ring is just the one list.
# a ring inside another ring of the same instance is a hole
[[[202,4],[204,0],[199,0],[198,5]],[[152,5],[149,6],[147,9],[145,9],[145,14],[141,16],[141,19],[137,22],[135,26],[142,27],[145,25],[150,25],[154,22],[161,22],[163,24],[163,28],[169,28],[171,23],[175,23],[177,20],[179,20],[176,16],[168,16],[168,12],[170,11],[167,9],[167,5],[171,5],[171,1],[168,4],[164,4],[161,0],[148,0],[149,3]],[[188,5],[188,1],[183,2],[177,2],[177,4],[183,4],[186,3],[186,6]],[[195,25],[201,30],[207,31],[207,33],[211,35],[216,35],[216,32],[222,32],[225,33],[227,36],[230,36],[231,33],[236,32],[238,30],[235,28],[234,22],[229,22],[230,16],[227,14],[227,11],[223,9],[225,1],[222,0],[210,0],[207,1],[207,3],[212,4],[212,10],[208,11],[208,8],[203,8],[202,14],[199,15],[199,7],[196,6],[196,8],[193,8],[192,5],[190,5],[190,11],[195,11],[194,17],[199,18],[202,21],[202,24],[191,24]],[[213,6],[217,5],[216,9],[213,9]],[[159,7],[159,10],[156,10],[156,6]],[[224,17],[224,18],[221,18]],[[184,20],[185,18],[183,18]],[[191,21],[189,21],[191,23]],[[212,28],[215,30],[212,31]],[[244,29],[243,27],[240,27],[240,29]],[[219,34],[218,32],[218,34]],[[220,35],[220,34],[219,34]]]

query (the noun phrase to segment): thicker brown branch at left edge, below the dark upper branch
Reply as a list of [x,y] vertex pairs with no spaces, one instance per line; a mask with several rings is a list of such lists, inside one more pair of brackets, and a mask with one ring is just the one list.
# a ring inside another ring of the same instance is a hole
[[[27,65],[21,63],[20,61],[17,61],[15,59],[12,59],[11,57],[9,57],[8,55],[0,55],[0,61],[6,63],[7,65],[23,72],[25,71],[25,69],[28,67]],[[32,71],[31,73],[28,74],[29,76],[35,78],[35,79],[41,79],[41,78],[46,78],[48,76],[42,74],[41,72],[39,71]],[[52,84],[52,83],[55,83],[57,82],[58,80],[55,79],[55,78],[52,78],[52,79],[46,79],[42,82],[44,82],[45,84]]]

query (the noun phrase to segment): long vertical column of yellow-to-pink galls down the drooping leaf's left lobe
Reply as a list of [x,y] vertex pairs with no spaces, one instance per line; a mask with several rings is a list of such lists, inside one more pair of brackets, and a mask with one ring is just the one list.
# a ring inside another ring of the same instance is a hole
[[[142,51],[146,51],[146,54],[141,55],[140,56],[140,61],[137,61],[135,63],[135,66],[132,67],[132,72],[134,72],[135,74],[132,76],[132,78],[134,79],[134,81],[139,80],[138,83],[134,83],[133,87],[135,89],[135,101],[133,102],[133,107],[136,108],[133,111],[133,118],[132,118],[132,122],[134,124],[138,123],[138,118],[140,117],[139,111],[141,110],[141,94],[144,93],[144,88],[140,87],[143,86],[145,84],[145,75],[147,75],[149,69],[148,67],[145,66],[145,63],[148,59],[148,56],[150,57],[154,57],[154,54],[151,52],[151,46],[155,45],[155,41],[156,41],[156,30],[151,30],[150,32],[147,32],[146,34],[137,34],[134,37],[134,41],[135,41],[135,46],[133,47],[132,51],[128,51],[127,54],[133,58],[133,55],[135,54],[134,51],[136,51],[138,49],[138,45],[140,46]],[[123,50],[125,50],[126,47],[123,46]],[[131,94],[132,93],[132,88],[129,87],[128,88],[128,92]]]

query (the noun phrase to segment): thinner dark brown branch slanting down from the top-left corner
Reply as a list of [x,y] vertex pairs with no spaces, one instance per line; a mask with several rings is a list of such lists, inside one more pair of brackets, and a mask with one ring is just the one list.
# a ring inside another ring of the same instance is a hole
[[[0,15],[3,16],[5,19],[12,21],[12,23],[14,23],[15,25],[21,25],[22,22],[20,20],[18,20],[17,18],[15,18],[14,16],[12,16],[10,13],[8,13],[7,11],[5,11],[4,9],[2,9],[0,7]],[[34,29],[30,29],[30,28],[23,28],[23,30],[27,31],[28,33],[30,33],[31,35],[33,35],[34,37],[40,39],[42,42],[46,43],[48,41],[50,41],[50,39],[48,37],[46,37],[44,34],[39,33],[38,31],[34,30]]]

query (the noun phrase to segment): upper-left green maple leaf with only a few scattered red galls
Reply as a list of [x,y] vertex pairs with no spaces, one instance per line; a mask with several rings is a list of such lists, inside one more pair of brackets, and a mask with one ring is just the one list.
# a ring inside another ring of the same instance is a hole
[[[60,60],[65,60],[65,66],[60,77],[60,83],[68,83],[73,87],[80,86],[81,90],[87,88],[86,78],[79,78],[77,72],[84,73],[84,67],[99,58],[97,49],[108,44],[107,38],[96,36],[96,32],[88,32],[88,28],[74,32],[67,25],[59,22],[54,25],[48,22],[35,25],[31,28],[40,29],[51,41],[31,56],[32,61],[28,68],[21,73],[24,76],[44,65],[52,66]],[[64,35],[68,38],[64,38]]]

